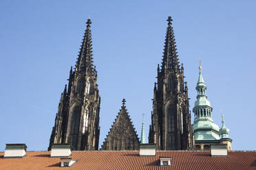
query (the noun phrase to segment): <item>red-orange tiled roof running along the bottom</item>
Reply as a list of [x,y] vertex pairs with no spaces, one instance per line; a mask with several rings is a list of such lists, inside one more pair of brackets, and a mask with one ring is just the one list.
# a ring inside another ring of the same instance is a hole
[[[211,157],[210,151],[157,151],[156,156],[139,156],[139,151],[72,151],[78,162],[60,167],[61,158],[50,151],[27,151],[23,158],[3,158],[0,169],[256,169],[256,151],[228,151],[227,157]],[[171,158],[171,166],[159,166],[159,157]]]

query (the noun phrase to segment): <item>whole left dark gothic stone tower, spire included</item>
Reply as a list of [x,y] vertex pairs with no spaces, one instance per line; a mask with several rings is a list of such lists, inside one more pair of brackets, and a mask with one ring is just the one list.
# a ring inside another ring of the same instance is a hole
[[73,150],[98,149],[100,96],[90,24],[88,19],[76,68],[71,67],[68,86],[61,94],[48,149],[53,143],[70,143]]

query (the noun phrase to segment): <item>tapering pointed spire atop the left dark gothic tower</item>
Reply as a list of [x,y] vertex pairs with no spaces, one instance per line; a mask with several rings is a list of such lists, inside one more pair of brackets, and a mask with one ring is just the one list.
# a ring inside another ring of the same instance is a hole
[[92,32],[91,32],[91,20],[87,20],[87,26],[85,29],[85,35],[83,36],[83,42],[76,62],[77,71],[92,71]]

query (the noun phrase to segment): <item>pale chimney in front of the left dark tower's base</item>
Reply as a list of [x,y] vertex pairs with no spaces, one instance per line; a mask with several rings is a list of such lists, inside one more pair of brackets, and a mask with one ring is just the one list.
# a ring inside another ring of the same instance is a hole
[[71,145],[67,143],[52,144],[51,157],[71,156]]

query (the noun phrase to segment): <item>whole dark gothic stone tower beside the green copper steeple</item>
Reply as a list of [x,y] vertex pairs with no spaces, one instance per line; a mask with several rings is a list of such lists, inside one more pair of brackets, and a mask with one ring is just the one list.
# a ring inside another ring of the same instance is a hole
[[149,127],[149,143],[158,149],[193,148],[193,128],[189,111],[188,88],[184,82],[176,51],[172,19],[168,18],[167,34],[158,82],[153,89],[153,113]]

